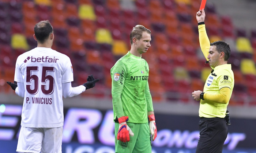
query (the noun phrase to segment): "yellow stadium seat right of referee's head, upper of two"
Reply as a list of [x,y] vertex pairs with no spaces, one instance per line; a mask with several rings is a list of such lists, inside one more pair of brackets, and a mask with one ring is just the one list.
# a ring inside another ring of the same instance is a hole
[[238,37],[236,43],[238,52],[249,52],[251,54],[253,53],[252,46],[248,38]]

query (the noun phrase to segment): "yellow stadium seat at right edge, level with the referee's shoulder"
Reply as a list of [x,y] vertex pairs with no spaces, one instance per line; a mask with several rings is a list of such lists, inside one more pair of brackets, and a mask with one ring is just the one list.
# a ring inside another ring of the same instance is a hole
[[256,75],[255,63],[251,59],[242,59],[240,63],[242,74]]

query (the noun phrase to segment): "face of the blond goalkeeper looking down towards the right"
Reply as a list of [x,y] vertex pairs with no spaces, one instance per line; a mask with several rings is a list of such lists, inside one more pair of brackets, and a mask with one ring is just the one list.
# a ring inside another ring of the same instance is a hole
[[147,52],[148,48],[151,46],[150,41],[151,41],[151,35],[148,34],[146,31],[142,32],[141,39],[140,40],[137,39],[137,42],[136,42],[137,51],[140,54]]

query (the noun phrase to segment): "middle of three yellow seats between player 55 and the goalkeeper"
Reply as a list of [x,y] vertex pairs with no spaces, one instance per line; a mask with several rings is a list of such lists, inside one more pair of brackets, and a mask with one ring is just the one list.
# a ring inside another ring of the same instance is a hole
[[95,39],[97,43],[108,43],[108,44],[113,43],[111,32],[108,29],[104,29],[104,28],[97,29],[95,32],[95,36],[96,36]]

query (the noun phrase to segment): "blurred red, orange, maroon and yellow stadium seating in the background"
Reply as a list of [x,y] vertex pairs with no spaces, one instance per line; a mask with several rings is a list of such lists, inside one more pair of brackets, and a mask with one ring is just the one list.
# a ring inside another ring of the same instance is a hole
[[[102,81],[101,94],[108,97],[110,68],[130,47],[129,33],[136,24],[151,30],[151,47],[143,55],[150,66],[149,84],[155,102],[191,102],[184,93],[203,90],[211,68],[204,64],[194,19],[201,0],[134,0],[134,9],[123,8],[119,0],[26,0],[0,3],[1,79],[14,77],[14,58],[37,46],[34,25],[50,20],[54,29],[53,49],[67,54],[74,65],[74,85],[86,82],[88,74]],[[8,7],[10,6],[10,7]],[[244,105],[255,95],[256,30],[250,35],[236,28],[230,16],[221,16],[207,3],[207,34],[210,42],[230,44],[236,86],[231,105]],[[199,53],[200,52],[200,53]],[[11,56],[15,55],[15,56]],[[8,68],[3,68],[8,67]],[[250,82],[250,83],[246,83]],[[4,85],[0,85],[1,92]],[[104,95],[107,94],[107,95]]]

